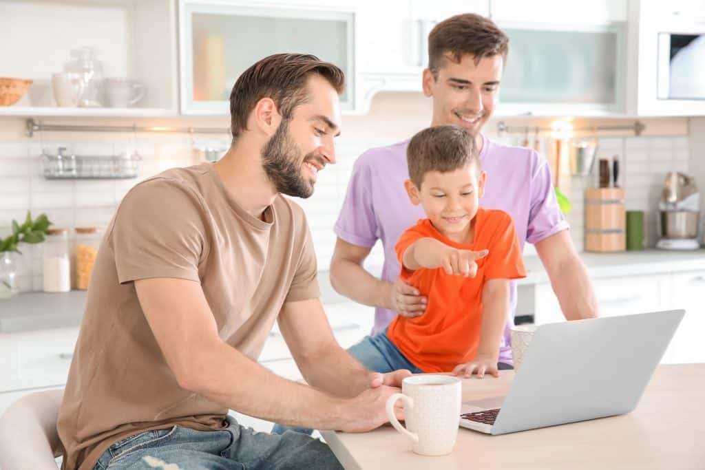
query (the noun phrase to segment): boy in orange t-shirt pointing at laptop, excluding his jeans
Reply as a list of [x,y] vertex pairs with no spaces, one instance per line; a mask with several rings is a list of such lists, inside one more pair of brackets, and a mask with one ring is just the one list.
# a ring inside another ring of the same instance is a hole
[[509,280],[526,276],[512,218],[481,209],[486,173],[472,136],[453,125],[422,130],[407,149],[412,204],[426,219],[400,237],[401,278],[427,296],[421,316],[397,316],[386,335],[424,372],[498,376]]

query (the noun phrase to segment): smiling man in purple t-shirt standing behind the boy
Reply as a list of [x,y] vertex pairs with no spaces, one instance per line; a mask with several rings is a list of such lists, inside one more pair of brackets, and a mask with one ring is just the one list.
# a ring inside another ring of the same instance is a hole
[[[423,73],[424,94],[433,99],[431,126],[458,125],[475,137],[487,173],[480,206],[508,212],[522,247],[534,244],[565,318],[591,318],[596,316],[594,293],[558,209],[548,163],[532,149],[497,144],[480,132],[494,111],[507,52],[508,38],[482,16],[458,15],[436,25],[429,35],[429,68]],[[404,230],[424,217],[404,190],[407,144],[370,149],[357,159],[335,225],[331,283],[341,294],[376,307],[372,335],[384,331],[397,314],[413,317],[425,309],[425,297],[398,278],[394,252]],[[381,280],[362,266],[377,240],[384,246]],[[512,283],[511,312],[498,355],[501,369],[512,364],[509,328],[516,293]]]

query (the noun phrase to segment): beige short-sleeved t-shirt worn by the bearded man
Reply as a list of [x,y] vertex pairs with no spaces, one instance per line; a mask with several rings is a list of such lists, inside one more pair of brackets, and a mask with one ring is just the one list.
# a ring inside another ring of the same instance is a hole
[[319,297],[300,206],[278,195],[262,218],[238,206],[212,163],[128,192],[98,250],[59,411],[63,469],[92,469],[110,445],[142,431],[226,426],[226,408],[176,382],[133,281],[199,283],[220,338],[256,361],[282,304]]

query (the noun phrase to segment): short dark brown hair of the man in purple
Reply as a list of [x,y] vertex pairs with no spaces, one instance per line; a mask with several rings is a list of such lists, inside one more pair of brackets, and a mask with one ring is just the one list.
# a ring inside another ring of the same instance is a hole
[[[434,26],[429,34],[429,69],[434,78],[444,61],[460,63],[462,56],[482,58],[502,56],[507,61],[509,38],[489,18],[475,13],[451,16]],[[450,56],[450,57],[448,57]]]

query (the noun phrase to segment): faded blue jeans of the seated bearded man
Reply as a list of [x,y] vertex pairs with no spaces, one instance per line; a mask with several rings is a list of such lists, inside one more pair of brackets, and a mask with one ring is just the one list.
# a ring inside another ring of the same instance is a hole
[[94,470],[343,469],[328,445],[300,433],[258,433],[231,416],[221,431],[174,426],[119,440]]

